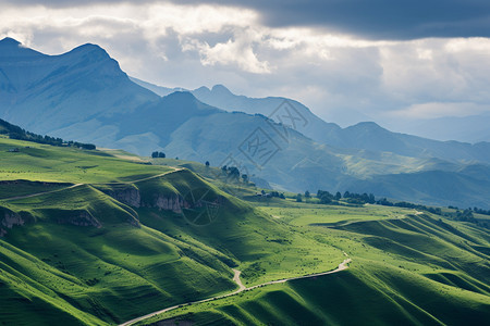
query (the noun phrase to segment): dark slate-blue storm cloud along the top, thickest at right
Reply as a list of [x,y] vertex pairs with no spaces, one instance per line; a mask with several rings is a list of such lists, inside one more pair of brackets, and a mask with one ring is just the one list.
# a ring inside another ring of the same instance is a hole
[[[0,1],[8,3],[11,1]],[[367,39],[407,40],[428,37],[489,37],[490,2],[486,0],[183,0],[175,4],[241,7],[260,13],[269,27],[309,26]],[[131,3],[121,0],[15,1],[52,8]],[[143,0],[140,5],[162,3]]]

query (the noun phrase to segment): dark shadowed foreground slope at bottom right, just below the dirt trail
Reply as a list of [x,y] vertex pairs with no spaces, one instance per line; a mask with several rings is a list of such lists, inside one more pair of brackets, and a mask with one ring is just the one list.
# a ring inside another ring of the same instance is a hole
[[255,289],[167,318],[196,325],[485,325],[489,308],[487,296],[365,261],[362,269]]

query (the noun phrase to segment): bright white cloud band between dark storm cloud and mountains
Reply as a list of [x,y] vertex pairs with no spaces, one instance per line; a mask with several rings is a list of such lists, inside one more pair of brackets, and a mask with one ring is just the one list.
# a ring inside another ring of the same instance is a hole
[[148,82],[286,96],[320,116],[342,114],[344,124],[467,115],[490,103],[488,38],[371,41],[314,27],[267,27],[243,8],[172,3],[5,4],[1,36],[51,54],[98,43]]

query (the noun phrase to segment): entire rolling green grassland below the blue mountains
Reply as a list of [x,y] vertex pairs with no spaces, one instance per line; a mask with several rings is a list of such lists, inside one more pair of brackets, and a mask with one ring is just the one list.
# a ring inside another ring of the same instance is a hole
[[[490,318],[490,235],[471,223],[257,198],[262,189],[226,184],[218,168],[121,151],[0,138],[0,325],[117,325],[172,305],[182,306],[138,324]],[[182,204],[194,196],[212,218]],[[345,271],[260,286],[332,271],[345,254]],[[238,289],[232,268],[260,287],[186,304]]]

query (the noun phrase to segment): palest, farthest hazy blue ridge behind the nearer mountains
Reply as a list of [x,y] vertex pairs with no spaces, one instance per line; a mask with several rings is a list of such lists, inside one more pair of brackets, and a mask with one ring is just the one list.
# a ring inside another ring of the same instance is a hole
[[[140,83],[140,80],[135,80]],[[148,86],[148,83],[140,84]],[[151,84],[149,84],[151,85]],[[168,88],[149,86],[159,95]],[[490,163],[490,143],[480,141],[477,145],[457,141],[437,141],[422,137],[389,131],[376,123],[358,123],[347,128],[341,128],[334,123],[327,123],[315,115],[302,103],[280,98],[248,98],[232,93],[223,85],[216,85],[211,89],[200,87],[192,90],[192,93],[200,101],[226,111],[242,111],[249,114],[260,113],[270,116],[278,108],[287,101],[294,110],[304,118],[305,123],[298,124],[295,129],[319,143],[326,143],[336,148],[365,149],[370,151],[393,152],[413,158],[440,158],[451,161],[468,160]],[[270,116],[275,120],[274,116]],[[275,120],[277,121],[277,120]],[[279,121],[277,121],[279,122]]]

